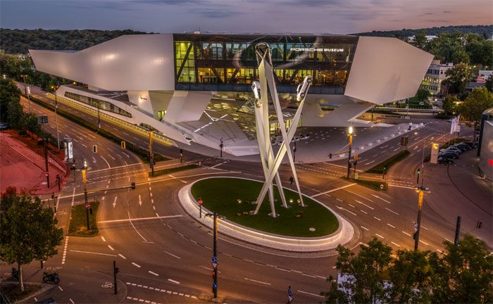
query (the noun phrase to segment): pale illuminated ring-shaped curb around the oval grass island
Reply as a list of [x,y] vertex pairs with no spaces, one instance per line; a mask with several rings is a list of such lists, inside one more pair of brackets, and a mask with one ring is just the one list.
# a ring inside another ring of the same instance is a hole
[[[210,179],[215,177],[206,177],[204,179]],[[242,177],[225,177],[225,178],[239,178],[246,179]],[[199,213],[199,205],[192,196],[192,186],[196,182],[203,179],[198,179],[191,184],[183,186],[178,192],[178,198],[180,204],[187,211],[187,213],[197,222],[204,224],[204,226],[213,229],[213,220],[208,217],[197,218],[196,215]],[[249,179],[255,182],[261,182],[256,179]],[[287,189],[286,187],[283,187]],[[308,197],[308,196],[306,196]],[[316,203],[323,205],[327,210],[337,217],[339,221],[339,228],[333,234],[329,236],[322,236],[318,238],[304,238],[304,237],[288,237],[279,236],[275,234],[268,234],[266,232],[261,232],[255,229],[247,228],[239,225],[235,222],[229,220],[218,220],[218,225],[221,229],[221,233],[231,236],[232,238],[239,239],[241,241],[246,241],[249,243],[254,243],[256,245],[265,246],[268,248],[275,248],[282,251],[294,251],[294,252],[316,252],[316,251],[327,251],[336,248],[339,244],[348,243],[354,236],[354,228],[343,217],[335,213],[334,210],[327,207],[327,205],[311,198]],[[208,213],[209,210],[202,207],[204,213]]]

